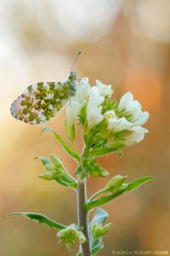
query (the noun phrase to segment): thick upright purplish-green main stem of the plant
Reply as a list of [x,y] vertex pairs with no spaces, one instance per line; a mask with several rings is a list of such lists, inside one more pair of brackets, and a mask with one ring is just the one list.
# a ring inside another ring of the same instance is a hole
[[[82,150],[82,158],[88,155],[89,148]],[[77,189],[77,210],[78,210],[78,224],[82,227],[82,232],[86,237],[87,241],[82,243],[82,256],[91,256],[90,239],[88,230],[88,210],[85,209],[84,205],[87,203],[87,189],[86,189],[86,178],[81,179],[78,177],[78,189]]]

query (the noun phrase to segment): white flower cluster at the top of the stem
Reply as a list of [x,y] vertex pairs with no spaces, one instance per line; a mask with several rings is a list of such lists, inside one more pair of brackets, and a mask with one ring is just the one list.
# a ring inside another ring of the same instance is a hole
[[75,120],[77,116],[83,116],[86,132],[95,131],[96,125],[99,128],[99,124],[106,122],[105,132],[110,131],[109,138],[122,132],[123,146],[143,140],[148,130],[142,125],[149,118],[149,113],[142,111],[140,103],[133,100],[131,92],[123,95],[120,102],[112,101],[112,95],[111,84],[105,85],[96,80],[96,85],[91,87],[88,79],[83,78],[77,86],[77,95],[71,98],[67,108],[66,128],[69,137],[75,138]]

